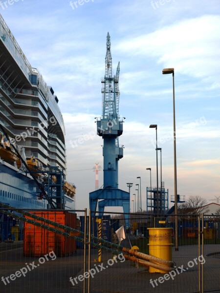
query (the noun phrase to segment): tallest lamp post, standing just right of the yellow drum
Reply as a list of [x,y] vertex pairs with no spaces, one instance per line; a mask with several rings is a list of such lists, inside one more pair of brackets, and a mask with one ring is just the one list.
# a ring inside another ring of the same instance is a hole
[[174,68],[164,68],[162,70],[163,74],[173,75],[173,108],[174,108],[174,201],[175,201],[175,239],[176,247],[175,250],[178,251],[178,222],[177,222],[177,180],[176,180],[176,119],[175,119],[175,90],[174,90]]

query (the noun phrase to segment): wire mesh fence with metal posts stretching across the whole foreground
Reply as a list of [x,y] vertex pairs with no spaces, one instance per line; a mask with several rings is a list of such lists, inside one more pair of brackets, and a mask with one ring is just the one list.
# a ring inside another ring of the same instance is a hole
[[[31,282],[33,292],[48,293],[72,292],[73,289],[123,293],[157,290],[174,293],[176,288],[184,293],[220,290],[218,215],[178,215],[178,251],[175,251],[174,215],[164,218],[131,213],[130,227],[122,230],[119,245],[115,231],[125,226],[123,213],[108,212],[91,217],[86,209],[75,211],[77,223],[71,228],[31,211],[1,207],[0,214],[8,216],[10,224],[16,224],[14,229],[9,225],[11,234],[16,233],[14,243],[0,243],[2,293],[29,292]],[[76,252],[63,258],[56,255],[54,260],[55,251],[39,255],[39,259],[37,255],[23,255],[21,241],[16,240],[22,237],[24,223],[26,229],[35,225],[65,239],[74,239]],[[16,274],[22,275],[16,277]]]

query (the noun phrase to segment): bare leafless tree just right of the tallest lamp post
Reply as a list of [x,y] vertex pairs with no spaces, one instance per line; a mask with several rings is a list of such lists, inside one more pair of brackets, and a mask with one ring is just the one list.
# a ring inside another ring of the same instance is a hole
[[200,195],[190,196],[189,199],[178,206],[179,214],[199,214],[201,212],[207,213],[209,209],[204,207],[207,204],[207,200]]

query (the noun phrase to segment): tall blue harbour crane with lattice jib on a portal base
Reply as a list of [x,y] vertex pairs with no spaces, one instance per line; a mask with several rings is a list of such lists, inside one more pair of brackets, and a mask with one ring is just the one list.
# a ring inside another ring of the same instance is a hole
[[[112,77],[112,59],[110,35],[107,35],[105,77],[102,83],[102,117],[97,118],[97,134],[103,138],[104,184],[103,188],[89,193],[89,208],[92,215],[97,209],[102,215],[105,207],[123,207],[124,213],[130,212],[129,192],[118,189],[118,161],[123,158],[123,146],[119,146],[118,137],[123,132],[123,118],[119,117],[119,71]],[[98,202],[98,200],[100,200]],[[129,214],[125,214],[126,226],[129,226]]]

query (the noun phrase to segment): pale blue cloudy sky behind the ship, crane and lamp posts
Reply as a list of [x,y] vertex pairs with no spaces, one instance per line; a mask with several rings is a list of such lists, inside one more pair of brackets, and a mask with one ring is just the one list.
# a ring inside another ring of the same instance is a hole
[[126,117],[119,188],[128,191],[132,182],[135,193],[141,176],[146,207],[147,167],[156,186],[155,130],[149,125],[157,124],[162,181],[174,194],[172,75],[162,75],[163,68],[174,67],[177,193],[200,195],[208,203],[220,196],[219,0],[79,0],[74,9],[69,0],[11,3],[0,6],[0,14],[59,99],[67,180],[77,187],[78,209],[88,208],[88,193],[95,189],[95,162],[103,165],[94,117],[102,114],[108,32],[114,73],[118,61],[121,68],[119,113]]

